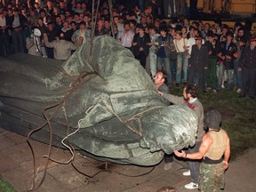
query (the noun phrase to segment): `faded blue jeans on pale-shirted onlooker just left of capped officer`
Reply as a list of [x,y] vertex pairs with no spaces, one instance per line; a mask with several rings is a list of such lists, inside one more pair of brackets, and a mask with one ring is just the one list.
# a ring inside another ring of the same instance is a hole
[[176,72],[176,83],[181,82],[181,72],[182,72],[182,82],[188,82],[188,56],[187,52],[178,52],[177,54],[177,72]]

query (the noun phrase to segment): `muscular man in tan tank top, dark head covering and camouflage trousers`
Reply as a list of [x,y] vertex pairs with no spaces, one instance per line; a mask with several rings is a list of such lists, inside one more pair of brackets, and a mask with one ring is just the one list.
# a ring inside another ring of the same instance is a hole
[[[224,172],[228,168],[230,140],[228,133],[220,128],[221,115],[212,109],[205,114],[204,126],[209,132],[204,134],[199,151],[187,154],[184,150],[174,150],[174,154],[188,159],[203,159],[200,164],[199,190],[220,191],[224,188]],[[222,157],[223,156],[223,157]]]

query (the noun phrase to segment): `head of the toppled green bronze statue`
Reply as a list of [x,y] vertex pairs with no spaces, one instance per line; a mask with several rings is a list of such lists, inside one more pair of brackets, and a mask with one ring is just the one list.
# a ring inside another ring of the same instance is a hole
[[195,142],[196,114],[185,105],[157,108],[143,117],[142,130],[141,148],[148,148],[150,152],[163,150],[170,154],[174,149]]

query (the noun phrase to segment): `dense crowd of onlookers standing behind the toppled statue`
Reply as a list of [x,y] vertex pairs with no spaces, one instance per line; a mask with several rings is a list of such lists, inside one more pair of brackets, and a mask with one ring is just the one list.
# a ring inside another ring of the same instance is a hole
[[[100,1],[99,12],[94,4],[92,15],[89,0],[2,0],[0,56],[27,52],[67,60],[92,36],[108,35],[131,50],[152,78],[162,70],[167,84],[198,84],[205,92],[235,87],[242,96],[247,89],[243,92],[243,86],[249,85],[250,96],[255,97],[255,62],[243,76],[240,58],[246,45],[254,48],[252,22],[236,22],[233,28],[220,20],[190,22],[186,1],[112,2],[109,9],[108,0]],[[170,9],[171,3],[175,9]],[[196,12],[194,6],[190,8]],[[252,52],[252,60],[255,54]]]

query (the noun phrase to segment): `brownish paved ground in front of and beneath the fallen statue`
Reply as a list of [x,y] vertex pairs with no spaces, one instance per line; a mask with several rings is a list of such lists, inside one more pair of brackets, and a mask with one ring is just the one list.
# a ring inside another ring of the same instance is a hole
[[[36,156],[36,186],[44,175],[48,145],[32,140]],[[33,160],[26,138],[0,128],[0,173],[18,192],[26,192],[32,186]],[[68,150],[52,148],[52,158],[68,162]],[[228,192],[255,191],[256,149],[229,164],[226,173]],[[76,167],[76,169],[74,168]],[[164,163],[156,167],[105,164],[76,152],[74,166],[50,161],[43,185],[39,192],[155,192],[158,188],[172,186],[179,192],[195,192],[184,188],[190,180],[184,177],[184,162],[175,161],[172,168],[164,171]],[[78,172],[76,171],[78,170]],[[92,177],[95,175],[94,177]]]

